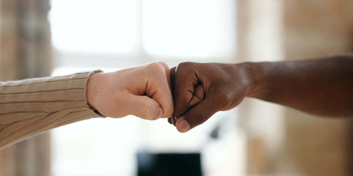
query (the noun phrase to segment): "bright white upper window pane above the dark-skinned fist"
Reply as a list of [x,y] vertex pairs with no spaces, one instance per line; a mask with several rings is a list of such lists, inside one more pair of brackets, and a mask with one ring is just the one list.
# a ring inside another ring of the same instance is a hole
[[213,57],[234,50],[233,0],[142,2],[143,47],[148,54]]

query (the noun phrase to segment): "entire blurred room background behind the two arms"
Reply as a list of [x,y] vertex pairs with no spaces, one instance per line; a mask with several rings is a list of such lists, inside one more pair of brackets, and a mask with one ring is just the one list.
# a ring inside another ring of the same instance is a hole
[[[0,81],[352,51],[353,1],[0,0]],[[0,176],[143,175],[151,158],[205,176],[348,176],[352,148],[352,120],[245,99],[185,134],[133,116],[58,127],[0,150]]]

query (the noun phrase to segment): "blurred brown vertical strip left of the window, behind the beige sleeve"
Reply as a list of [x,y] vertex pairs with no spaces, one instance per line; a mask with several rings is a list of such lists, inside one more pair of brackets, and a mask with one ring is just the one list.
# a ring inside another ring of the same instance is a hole
[[[49,0],[0,1],[0,81],[49,76]],[[0,150],[0,176],[50,175],[49,132]]]

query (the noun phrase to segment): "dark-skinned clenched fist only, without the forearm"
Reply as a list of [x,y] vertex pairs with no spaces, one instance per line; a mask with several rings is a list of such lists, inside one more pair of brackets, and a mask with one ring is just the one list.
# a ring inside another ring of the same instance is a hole
[[239,105],[249,87],[245,69],[237,64],[183,62],[170,72],[175,115],[168,121],[179,132]]

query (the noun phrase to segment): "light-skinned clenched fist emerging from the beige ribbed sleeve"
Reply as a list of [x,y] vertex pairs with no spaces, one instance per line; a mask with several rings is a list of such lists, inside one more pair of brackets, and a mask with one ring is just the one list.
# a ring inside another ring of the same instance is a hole
[[106,117],[135,115],[156,120],[174,111],[170,71],[163,62],[111,73],[92,74],[87,82],[88,104]]

